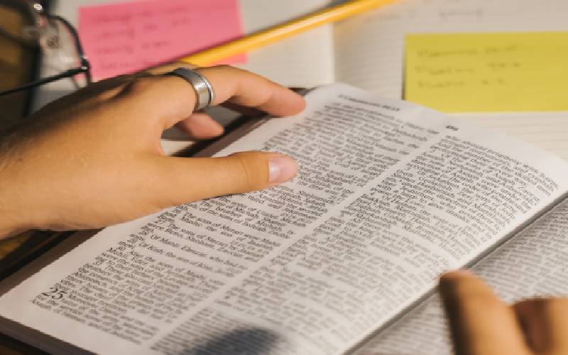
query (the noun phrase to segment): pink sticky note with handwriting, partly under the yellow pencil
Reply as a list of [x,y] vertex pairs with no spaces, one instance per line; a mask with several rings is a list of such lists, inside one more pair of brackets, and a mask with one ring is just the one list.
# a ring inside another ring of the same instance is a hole
[[[242,33],[238,0],[131,1],[79,9],[79,35],[96,80],[180,58]],[[239,55],[222,62],[245,59]]]

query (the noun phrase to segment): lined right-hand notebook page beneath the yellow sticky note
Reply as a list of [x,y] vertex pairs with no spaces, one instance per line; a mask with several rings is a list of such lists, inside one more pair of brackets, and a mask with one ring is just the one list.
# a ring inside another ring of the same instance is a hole
[[[408,33],[568,31],[563,0],[401,0],[334,27],[336,77],[383,97],[403,97]],[[568,160],[568,113],[469,114],[466,119]]]

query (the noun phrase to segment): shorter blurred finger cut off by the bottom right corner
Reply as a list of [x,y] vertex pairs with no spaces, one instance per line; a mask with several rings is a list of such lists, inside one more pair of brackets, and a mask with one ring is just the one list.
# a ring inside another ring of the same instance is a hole
[[537,354],[568,354],[568,299],[525,300],[513,306]]

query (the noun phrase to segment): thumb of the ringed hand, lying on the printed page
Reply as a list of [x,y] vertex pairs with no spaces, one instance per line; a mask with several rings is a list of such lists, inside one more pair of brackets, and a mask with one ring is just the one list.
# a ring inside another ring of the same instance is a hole
[[207,197],[261,190],[293,178],[297,164],[288,155],[241,152],[218,158],[159,157],[161,207]]

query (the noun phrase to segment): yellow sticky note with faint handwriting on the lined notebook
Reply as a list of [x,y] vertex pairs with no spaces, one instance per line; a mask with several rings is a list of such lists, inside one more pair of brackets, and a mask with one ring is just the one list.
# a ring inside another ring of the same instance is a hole
[[445,112],[568,110],[568,32],[406,37],[405,99]]

